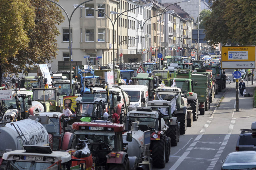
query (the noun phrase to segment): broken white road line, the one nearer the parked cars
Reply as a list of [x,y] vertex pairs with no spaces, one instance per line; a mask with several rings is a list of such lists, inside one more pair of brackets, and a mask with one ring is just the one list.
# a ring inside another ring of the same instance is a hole
[[[225,136],[226,140],[228,140],[230,138],[230,134],[232,133],[235,122],[236,122],[236,118],[233,118],[231,120],[230,124],[229,124],[228,132],[226,133],[226,136]],[[227,143],[228,143],[227,141],[222,142],[218,152],[215,154],[213,159],[219,159],[219,157],[221,156],[221,154],[222,154],[223,150],[225,149]],[[215,161],[211,161],[210,165],[208,166],[208,168],[206,170],[212,170],[215,167],[216,163],[217,162],[215,162]]]

